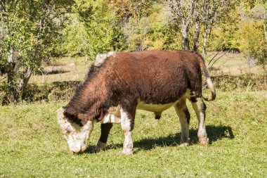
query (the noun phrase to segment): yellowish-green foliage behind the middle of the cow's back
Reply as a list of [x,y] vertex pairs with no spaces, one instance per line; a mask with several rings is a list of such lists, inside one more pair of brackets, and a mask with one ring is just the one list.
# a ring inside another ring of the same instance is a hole
[[135,15],[124,27],[127,51],[170,49],[174,39],[169,24],[169,13],[162,4],[153,4],[145,15]]

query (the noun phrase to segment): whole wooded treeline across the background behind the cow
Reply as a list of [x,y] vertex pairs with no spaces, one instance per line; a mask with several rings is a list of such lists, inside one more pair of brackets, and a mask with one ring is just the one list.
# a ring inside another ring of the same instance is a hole
[[264,68],[266,0],[0,0],[5,102],[51,58],[107,51],[235,51]]

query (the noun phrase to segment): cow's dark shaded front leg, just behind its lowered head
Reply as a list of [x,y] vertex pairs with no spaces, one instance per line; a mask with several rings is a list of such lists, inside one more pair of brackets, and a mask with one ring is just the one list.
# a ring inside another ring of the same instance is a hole
[[96,145],[95,151],[99,152],[105,148],[108,141],[108,134],[110,134],[110,129],[112,128],[112,123],[101,124],[101,135]]

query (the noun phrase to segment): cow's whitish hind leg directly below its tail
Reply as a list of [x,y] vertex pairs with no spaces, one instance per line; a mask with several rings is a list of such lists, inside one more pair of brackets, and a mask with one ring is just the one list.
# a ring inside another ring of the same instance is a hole
[[195,110],[198,120],[198,132],[197,137],[200,141],[200,144],[207,145],[209,144],[209,138],[207,137],[206,127],[205,127],[205,111],[206,105],[202,101],[202,98],[196,98],[197,102],[192,103],[192,106]]

